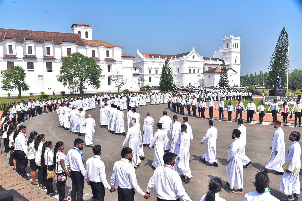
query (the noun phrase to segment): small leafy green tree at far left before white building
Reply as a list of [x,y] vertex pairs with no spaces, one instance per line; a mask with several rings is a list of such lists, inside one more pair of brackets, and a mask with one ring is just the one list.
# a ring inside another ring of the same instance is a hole
[[25,82],[25,71],[21,66],[14,66],[1,71],[4,80],[1,80],[1,88],[5,91],[16,89],[19,91],[18,98],[21,98],[21,91],[29,90]]

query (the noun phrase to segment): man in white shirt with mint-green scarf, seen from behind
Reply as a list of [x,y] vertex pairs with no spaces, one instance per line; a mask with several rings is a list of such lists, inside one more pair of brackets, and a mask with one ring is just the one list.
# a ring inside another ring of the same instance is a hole
[[92,190],[92,200],[104,200],[105,188],[114,192],[106,179],[105,165],[101,159],[101,145],[97,144],[92,148],[94,153],[93,157],[89,158],[86,162],[87,179],[90,182]]

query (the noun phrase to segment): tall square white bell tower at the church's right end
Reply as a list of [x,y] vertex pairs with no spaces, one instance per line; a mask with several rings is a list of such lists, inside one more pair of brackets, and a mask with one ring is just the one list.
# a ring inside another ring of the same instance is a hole
[[236,76],[236,81],[234,80],[235,85],[240,86],[240,47],[241,47],[240,37],[230,35],[230,37],[223,37],[223,60],[226,65],[229,65],[227,68],[232,68],[238,74]]

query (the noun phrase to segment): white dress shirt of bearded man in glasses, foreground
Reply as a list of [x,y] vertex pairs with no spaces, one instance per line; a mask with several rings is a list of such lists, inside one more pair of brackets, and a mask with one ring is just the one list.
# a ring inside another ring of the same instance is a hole
[[115,188],[115,182],[117,182],[120,188],[134,188],[140,195],[144,196],[146,194],[138,185],[134,167],[127,159],[122,159],[114,163],[111,176],[112,188]]

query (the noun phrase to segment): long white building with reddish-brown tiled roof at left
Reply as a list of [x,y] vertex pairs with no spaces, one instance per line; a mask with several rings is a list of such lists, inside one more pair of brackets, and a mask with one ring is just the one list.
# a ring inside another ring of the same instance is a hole
[[[58,82],[63,59],[79,52],[96,61],[101,66],[101,87],[96,90],[85,85],[90,91],[115,91],[112,82],[113,72],[129,81],[121,90],[139,89],[137,72],[133,67],[133,56],[122,53],[121,46],[114,46],[102,40],[92,40],[92,26],[72,24],[72,33],[29,31],[0,28],[0,71],[19,65],[27,73],[26,82],[30,85],[27,93],[49,93],[69,90]],[[134,74],[134,75],[133,75]],[[135,80],[134,80],[135,79]],[[84,90],[85,91],[85,90]],[[7,94],[0,88],[0,94]]]

